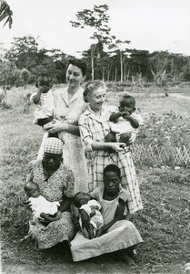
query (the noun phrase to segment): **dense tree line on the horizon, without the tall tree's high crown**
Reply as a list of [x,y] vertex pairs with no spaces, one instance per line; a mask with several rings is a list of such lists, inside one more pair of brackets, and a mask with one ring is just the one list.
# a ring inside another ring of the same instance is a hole
[[[93,44],[82,53],[88,65],[87,79],[92,79],[92,47],[94,48],[94,79],[105,81],[155,82],[164,86],[190,81],[190,57],[167,51],[112,47],[104,51]],[[114,49],[113,49],[114,48]],[[121,56],[122,55],[122,56]],[[59,49],[38,49],[34,37],[15,37],[9,50],[1,48],[0,85],[24,86],[35,83],[36,76],[47,70],[55,83],[65,82],[68,60],[74,58]]]

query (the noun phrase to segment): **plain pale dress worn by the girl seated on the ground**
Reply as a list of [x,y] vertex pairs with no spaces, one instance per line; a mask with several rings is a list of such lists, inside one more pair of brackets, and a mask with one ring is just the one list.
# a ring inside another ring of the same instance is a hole
[[[90,195],[102,205],[105,225],[114,219],[118,199],[128,200],[129,193],[121,188],[119,195],[112,201],[103,199],[104,187],[97,187]],[[71,253],[74,261],[93,258],[105,253],[129,248],[142,243],[143,239],[133,223],[127,220],[116,222],[101,237],[88,239],[79,231],[71,241]]]

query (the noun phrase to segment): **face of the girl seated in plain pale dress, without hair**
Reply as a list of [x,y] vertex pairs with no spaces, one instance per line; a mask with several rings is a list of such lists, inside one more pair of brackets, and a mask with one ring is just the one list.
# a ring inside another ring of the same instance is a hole
[[107,194],[116,194],[119,191],[121,178],[115,172],[107,172],[104,176],[105,192]]

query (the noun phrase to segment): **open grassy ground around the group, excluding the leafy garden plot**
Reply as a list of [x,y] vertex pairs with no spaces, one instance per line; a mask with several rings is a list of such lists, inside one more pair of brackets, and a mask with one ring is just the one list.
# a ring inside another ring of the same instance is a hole
[[[31,238],[23,240],[28,230],[28,212],[23,206],[27,164],[35,159],[43,136],[41,128],[33,124],[35,106],[29,106],[29,112],[24,112],[25,95],[33,89],[8,90],[7,101],[12,109],[1,111],[2,258],[4,263],[14,260],[35,264],[63,263],[63,255],[60,257],[51,249],[39,251]],[[121,94],[110,95],[109,102],[117,105]],[[147,98],[143,94],[135,98],[139,111],[154,111],[156,117],[174,110],[177,113],[187,111],[189,115],[189,103],[184,100],[163,96],[152,98],[152,95]],[[170,122],[171,127],[175,125],[174,119]],[[146,127],[145,134],[148,134]],[[140,136],[139,142],[142,140]],[[137,164],[136,171],[144,202],[144,210],[133,217],[145,240],[137,249],[140,269],[153,269],[156,264],[186,263],[190,258],[188,167],[174,170],[173,167],[154,168]],[[94,258],[84,262],[84,266],[99,260],[105,263],[104,259]]]

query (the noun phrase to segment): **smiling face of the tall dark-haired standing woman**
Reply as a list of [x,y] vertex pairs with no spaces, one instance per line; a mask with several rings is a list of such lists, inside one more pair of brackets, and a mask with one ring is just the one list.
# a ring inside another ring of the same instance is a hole
[[69,64],[66,70],[66,81],[69,87],[78,88],[84,79],[85,77],[83,76],[81,68]]

